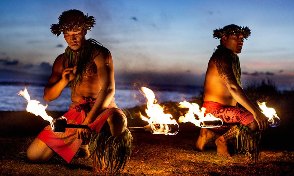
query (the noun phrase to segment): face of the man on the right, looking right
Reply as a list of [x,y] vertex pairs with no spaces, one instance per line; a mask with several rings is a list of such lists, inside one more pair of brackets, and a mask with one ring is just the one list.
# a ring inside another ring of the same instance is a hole
[[223,36],[223,45],[232,50],[234,54],[239,54],[242,51],[244,36],[242,34]]

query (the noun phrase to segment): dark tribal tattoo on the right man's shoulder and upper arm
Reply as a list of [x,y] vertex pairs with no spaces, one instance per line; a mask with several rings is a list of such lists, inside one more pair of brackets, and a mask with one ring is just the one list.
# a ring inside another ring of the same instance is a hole
[[225,57],[214,57],[212,62],[216,65],[218,69],[218,74],[223,79],[225,84],[233,81],[234,74],[232,68],[232,62]]

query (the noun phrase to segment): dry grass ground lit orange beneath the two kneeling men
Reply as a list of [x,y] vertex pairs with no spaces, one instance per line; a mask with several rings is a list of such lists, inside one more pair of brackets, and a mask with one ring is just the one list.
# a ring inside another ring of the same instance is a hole
[[[209,143],[204,152],[194,148],[196,133],[178,133],[175,136],[151,133],[133,133],[131,160],[120,175],[293,175],[294,152],[261,148],[256,163],[234,154],[224,159],[216,155],[216,146]],[[0,138],[0,175],[99,175],[91,171],[92,159],[70,163],[51,160],[31,164],[19,155],[34,137]],[[103,175],[103,174],[100,174]]]

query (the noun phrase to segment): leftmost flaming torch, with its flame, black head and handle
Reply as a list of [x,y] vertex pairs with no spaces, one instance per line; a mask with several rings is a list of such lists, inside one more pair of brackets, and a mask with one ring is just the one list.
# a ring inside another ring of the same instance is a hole
[[31,100],[31,97],[26,88],[24,89],[24,91],[19,91],[17,94],[23,96],[28,101],[26,111],[35,114],[36,116],[41,116],[44,120],[49,121],[52,131],[54,132],[65,132],[66,128],[90,129],[87,125],[67,124],[67,119],[64,116],[62,116],[60,119],[53,119],[45,111],[48,105],[46,104],[46,106],[44,106],[42,104],[39,104],[40,101]]

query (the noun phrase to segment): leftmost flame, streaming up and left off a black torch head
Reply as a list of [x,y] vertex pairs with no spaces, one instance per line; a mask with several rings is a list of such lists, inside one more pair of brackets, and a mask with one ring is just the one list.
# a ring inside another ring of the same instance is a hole
[[54,131],[53,118],[49,116],[45,111],[48,105],[46,104],[46,106],[44,106],[42,104],[39,104],[40,101],[31,100],[31,97],[26,88],[24,89],[24,91],[19,91],[17,94],[23,96],[28,101],[26,111],[35,114],[36,116],[41,116],[44,120],[49,121],[51,128]]

